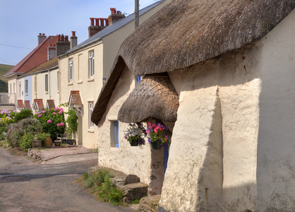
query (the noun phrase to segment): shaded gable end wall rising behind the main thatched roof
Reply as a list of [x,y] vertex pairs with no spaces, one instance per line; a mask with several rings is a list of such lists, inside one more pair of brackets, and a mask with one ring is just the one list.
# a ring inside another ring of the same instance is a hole
[[[144,13],[139,18],[139,23],[143,23],[145,20],[150,18],[153,14],[157,13],[159,9],[163,6],[169,4],[171,0],[165,0],[161,4],[155,6],[150,11]],[[116,30],[116,32],[107,35],[102,40],[104,42],[104,73],[103,77],[107,78],[109,76],[109,71],[111,71],[114,64],[114,59],[121,46],[122,42],[135,30],[135,22],[132,20],[130,23],[124,25],[123,28]]]

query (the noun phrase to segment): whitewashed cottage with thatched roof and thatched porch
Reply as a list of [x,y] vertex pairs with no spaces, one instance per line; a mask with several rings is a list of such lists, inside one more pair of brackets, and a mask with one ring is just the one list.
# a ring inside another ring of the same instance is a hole
[[[99,164],[150,184],[158,211],[295,211],[294,8],[175,0],[140,25],[92,113]],[[172,132],[166,172],[163,150],[124,141],[153,119]]]

